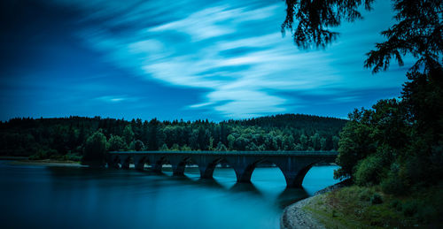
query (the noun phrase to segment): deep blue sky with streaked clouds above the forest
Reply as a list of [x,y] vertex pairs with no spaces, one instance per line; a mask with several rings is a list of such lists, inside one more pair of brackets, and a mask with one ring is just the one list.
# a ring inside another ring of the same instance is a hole
[[408,58],[363,67],[394,22],[389,2],[334,28],[326,49],[299,50],[280,0],[3,0],[0,120],[346,118],[407,80]]

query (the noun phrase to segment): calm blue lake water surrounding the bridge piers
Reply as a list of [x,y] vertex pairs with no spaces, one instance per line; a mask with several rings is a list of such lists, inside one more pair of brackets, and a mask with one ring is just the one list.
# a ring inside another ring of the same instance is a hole
[[312,168],[304,189],[285,189],[277,168],[253,184],[217,168],[214,180],[134,170],[13,165],[0,161],[2,228],[278,228],[284,206],[336,182],[336,166]]

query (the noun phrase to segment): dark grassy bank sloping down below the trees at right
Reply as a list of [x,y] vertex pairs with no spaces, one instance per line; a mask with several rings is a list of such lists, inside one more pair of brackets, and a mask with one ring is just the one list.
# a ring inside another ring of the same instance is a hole
[[408,196],[385,195],[379,187],[344,187],[303,207],[327,228],[443,228],[443,184]]

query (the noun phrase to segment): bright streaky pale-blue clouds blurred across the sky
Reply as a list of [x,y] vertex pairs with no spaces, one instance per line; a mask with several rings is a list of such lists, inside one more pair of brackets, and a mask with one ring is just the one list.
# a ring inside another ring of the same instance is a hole
[[[297,50],[291,37],[282,38],[279,32],[284,20],[281,2],[77,4],[92,11],[83,21],[89,26],[79,36],[104,52],[113,65],[147,80],[206,88],[209,92],[202,101],[186,106],[212,109],[229,118],[293,111],[290,107],[309,103],[297,95],[334,96],[335,88],[392,88],[404,80],[402,73],[387,80],[370,78],[361,67],[360,50],[371,48],[362,47],[361,41],[377,34],[374,31],[353,34],[353,39],[342,37],[328,50]],[[280,93],[284,91],[295,96]],[[115,103],[124,99],[105,97]],[[358,100],[346,95],[335,98],[337,103]]]

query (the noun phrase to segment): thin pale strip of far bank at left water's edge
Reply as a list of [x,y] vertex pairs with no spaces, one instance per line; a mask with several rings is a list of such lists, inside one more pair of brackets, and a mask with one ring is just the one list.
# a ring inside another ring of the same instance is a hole
[[52,159],[29,160],[27,156],[0,156],[0,160],[9,161],[9,164],[42,165],[42,166],[66,166],[85,167],[86,165],[74,161],[60,161]]

